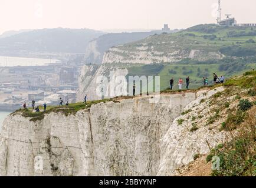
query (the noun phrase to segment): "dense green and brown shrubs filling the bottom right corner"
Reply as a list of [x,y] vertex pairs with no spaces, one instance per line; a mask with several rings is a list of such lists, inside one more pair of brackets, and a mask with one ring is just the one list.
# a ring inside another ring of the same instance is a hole
[[212,176],[256,176],[255,125],[254,110],[237,136],[211,152],[211,156],[218,156],[220,160],[219,169],[213,170]]

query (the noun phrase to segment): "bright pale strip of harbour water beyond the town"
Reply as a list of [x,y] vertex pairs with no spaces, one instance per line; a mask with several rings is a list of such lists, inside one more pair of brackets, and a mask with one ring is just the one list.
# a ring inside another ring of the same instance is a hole
[[58,59],[19,58],[0,56],[0,67],[6,66],[47,66],[60,62]]

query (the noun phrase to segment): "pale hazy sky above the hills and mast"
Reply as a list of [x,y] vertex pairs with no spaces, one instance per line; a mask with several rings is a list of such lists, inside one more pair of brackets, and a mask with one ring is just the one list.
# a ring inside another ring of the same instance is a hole
[[[215,23],[218,0],[0,0],[0,33],[18,29],[171,29]],[[222,16],[256,23],[256,0],[222,0]]]

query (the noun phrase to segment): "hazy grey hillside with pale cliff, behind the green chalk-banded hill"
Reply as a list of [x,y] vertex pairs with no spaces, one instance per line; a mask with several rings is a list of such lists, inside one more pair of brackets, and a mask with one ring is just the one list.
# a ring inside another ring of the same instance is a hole
[[[147,36],[161,32],[162,31],[107,33],[106,35],[102,35],[99,38],[90,41],[86,48],[86,55],[84,57],[84,61],[86,63],[101,64],[101,62],[103,61],[104,53],[108,51],[111,47],[129,42],[139,41],[140,39],[144,39]],[[176,30],[170,32],[176,32]]]

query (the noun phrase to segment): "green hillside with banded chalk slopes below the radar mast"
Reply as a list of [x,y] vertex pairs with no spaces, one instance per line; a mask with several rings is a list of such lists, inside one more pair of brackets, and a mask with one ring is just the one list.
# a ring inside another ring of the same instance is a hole
[[103,63],[170,63],[184,59],[208,61],[225,56],[255,56],[256,28],[197,25],[177,33],[162,33],[114,46]]

